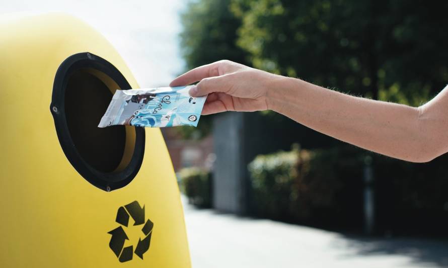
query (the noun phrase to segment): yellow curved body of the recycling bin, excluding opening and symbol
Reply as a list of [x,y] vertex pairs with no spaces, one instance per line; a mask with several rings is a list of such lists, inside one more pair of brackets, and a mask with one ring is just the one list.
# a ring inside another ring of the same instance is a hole
[[[179,190],[159,129],[146,129],[134,180],[110,193],[65,157],[49,105],[57,68],[80,52],[111,62],[138,88],[115,49],[85,23],[61,14],[0,18],[0,267],[190,267]],[[119,262],[108,232],[119,226],[117,209],[133,201],[154,222],[151,246],[143,260],[134,254]]]

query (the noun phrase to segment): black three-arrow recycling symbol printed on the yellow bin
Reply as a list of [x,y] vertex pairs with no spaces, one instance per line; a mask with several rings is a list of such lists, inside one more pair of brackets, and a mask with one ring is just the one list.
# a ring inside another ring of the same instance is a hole
[[[124,242],[129,240],[123,229],[123,226],[126,228],[128,227],[129,216],[134,220],[134,226],[144,224],[141,228],[141,232],[144,234],[144,237],[138,238],[138,243],[135,246],[135,250],[133,249],[133,245],[123,248]],[[144,206],[140,207],[140,204],[138,204],[137,201],[129,203],[118,209],[117,218],[115,221],[119,223],[120,226],[108,232],[108,234],[112,235],[110,238],[109,247],[118,257],[120,262],[131,260],[133,253],[143,259],[143,254],[150,248],[154,223],[150,219],[147,219],[146,222],[144,220]]]

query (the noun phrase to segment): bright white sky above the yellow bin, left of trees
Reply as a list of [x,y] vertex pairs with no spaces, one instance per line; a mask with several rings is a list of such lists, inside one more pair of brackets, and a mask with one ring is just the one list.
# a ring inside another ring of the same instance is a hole
[[118,50],[141,87],[168,85],[184,70],[179,51],[179,12],[185,0],[0,0],[11,12],[59,11],[101,32]]

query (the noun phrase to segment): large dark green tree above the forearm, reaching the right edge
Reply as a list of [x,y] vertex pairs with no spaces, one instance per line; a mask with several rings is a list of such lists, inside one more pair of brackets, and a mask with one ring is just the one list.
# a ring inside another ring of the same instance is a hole
[[261,69],[418,105],[448,81],[448,2],[232,0]]

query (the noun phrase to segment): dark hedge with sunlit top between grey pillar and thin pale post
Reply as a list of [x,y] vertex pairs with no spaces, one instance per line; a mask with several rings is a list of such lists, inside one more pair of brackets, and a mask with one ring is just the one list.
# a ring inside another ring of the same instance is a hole
[[350,200],[356,197],[344,186],[362,187],[361,159],[349,146],[314,151],[295,146],[289,152],[259,155],[249,164],[251,208],[262,217],[317,224],[352,214]]

